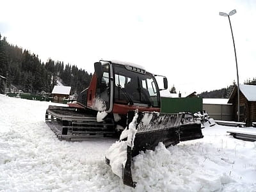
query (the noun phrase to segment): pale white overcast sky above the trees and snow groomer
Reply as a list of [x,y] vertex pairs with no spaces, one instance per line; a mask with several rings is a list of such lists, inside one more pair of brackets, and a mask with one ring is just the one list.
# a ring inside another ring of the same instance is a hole
[[[256,77],[256,1],[0,0],[8,42],[93,72],[100,59],[129,61],[168,77],[180,92],[227,87]],[[237,80],[236,80],[237,81]]]

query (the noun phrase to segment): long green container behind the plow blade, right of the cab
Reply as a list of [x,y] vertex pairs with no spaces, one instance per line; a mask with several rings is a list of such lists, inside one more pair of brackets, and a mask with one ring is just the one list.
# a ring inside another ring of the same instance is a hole
[[196,113],[203,110],[201,97],[169,98],[161,97],[161,113]]

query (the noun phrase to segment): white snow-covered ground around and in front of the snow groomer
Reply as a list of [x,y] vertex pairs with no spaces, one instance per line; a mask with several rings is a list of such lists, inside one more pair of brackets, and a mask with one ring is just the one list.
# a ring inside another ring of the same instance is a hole
[[58,140],[44,122],[49,104],[0,95],[0,191],[256,191],[256,143],[230,127],[134,157],[132,189],[105,164],[115,140]]

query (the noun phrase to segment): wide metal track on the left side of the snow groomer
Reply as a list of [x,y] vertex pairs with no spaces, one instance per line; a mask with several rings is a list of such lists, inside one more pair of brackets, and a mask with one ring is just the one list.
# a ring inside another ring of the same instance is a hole
[[96,116],[76,108],[49,106],[45,122],[60,140],[81,141],[115,134],[115,122],[97,122]]

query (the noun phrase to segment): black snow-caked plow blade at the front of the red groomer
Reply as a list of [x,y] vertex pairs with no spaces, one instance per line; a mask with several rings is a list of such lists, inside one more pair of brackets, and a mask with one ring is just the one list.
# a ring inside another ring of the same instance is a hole
[[[127,125],[129,125],[126,130],[127,137],[123,139],[121,134],[119,141],[120,143],[127,142],[127,156],[126,161],[119,167],[122,167],[124,184],[132,188],[136,186],[136,182],[132,180],[132,157],[138,155],[141,150],[154,150],[159,142],[163,142],[166,147],[169,147],[180,141],[196,140],[204,137],[200,123],[182,124],[182,122],[186,122],[184,121],[184,113],[135,112],[134,114],[134,112],[131,112],[128,114],[127,121]],[[134,131],[134,127],[136,127],[136,131]],[[118,143],[113,145],[118,145]],[[115,148],[111,146],[108,150],[109,153],[106,153],[106,163],[110,164],[111,168],[112,166],[116,167],[116,165],[111,164],[111,161],[116,161],[116,157],[111,154],[115,151]],[[120,176],[118,173],[116,175]]]

